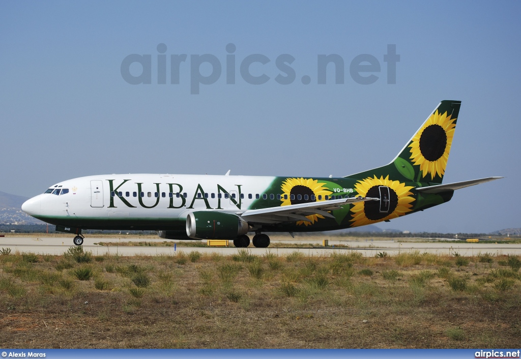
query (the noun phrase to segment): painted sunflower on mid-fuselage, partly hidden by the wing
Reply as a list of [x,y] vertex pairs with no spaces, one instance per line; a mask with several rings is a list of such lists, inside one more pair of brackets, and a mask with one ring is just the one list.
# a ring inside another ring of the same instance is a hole
[[[309,203],[309,202],[320,202],[325,201],[326,196],[330,195],[326,187],[323,187],[326,183],[320,183],[318,180],[312,178],[288,178],[282,182],[280,189],[282,195],[280,200],[282,201],[281,206],[288,206],[291,204]],[[309,226],[314,224],[318,218],[324,218],[319,214],[306,216],[311,222],[299,220],[296,222],[297,225]]]

